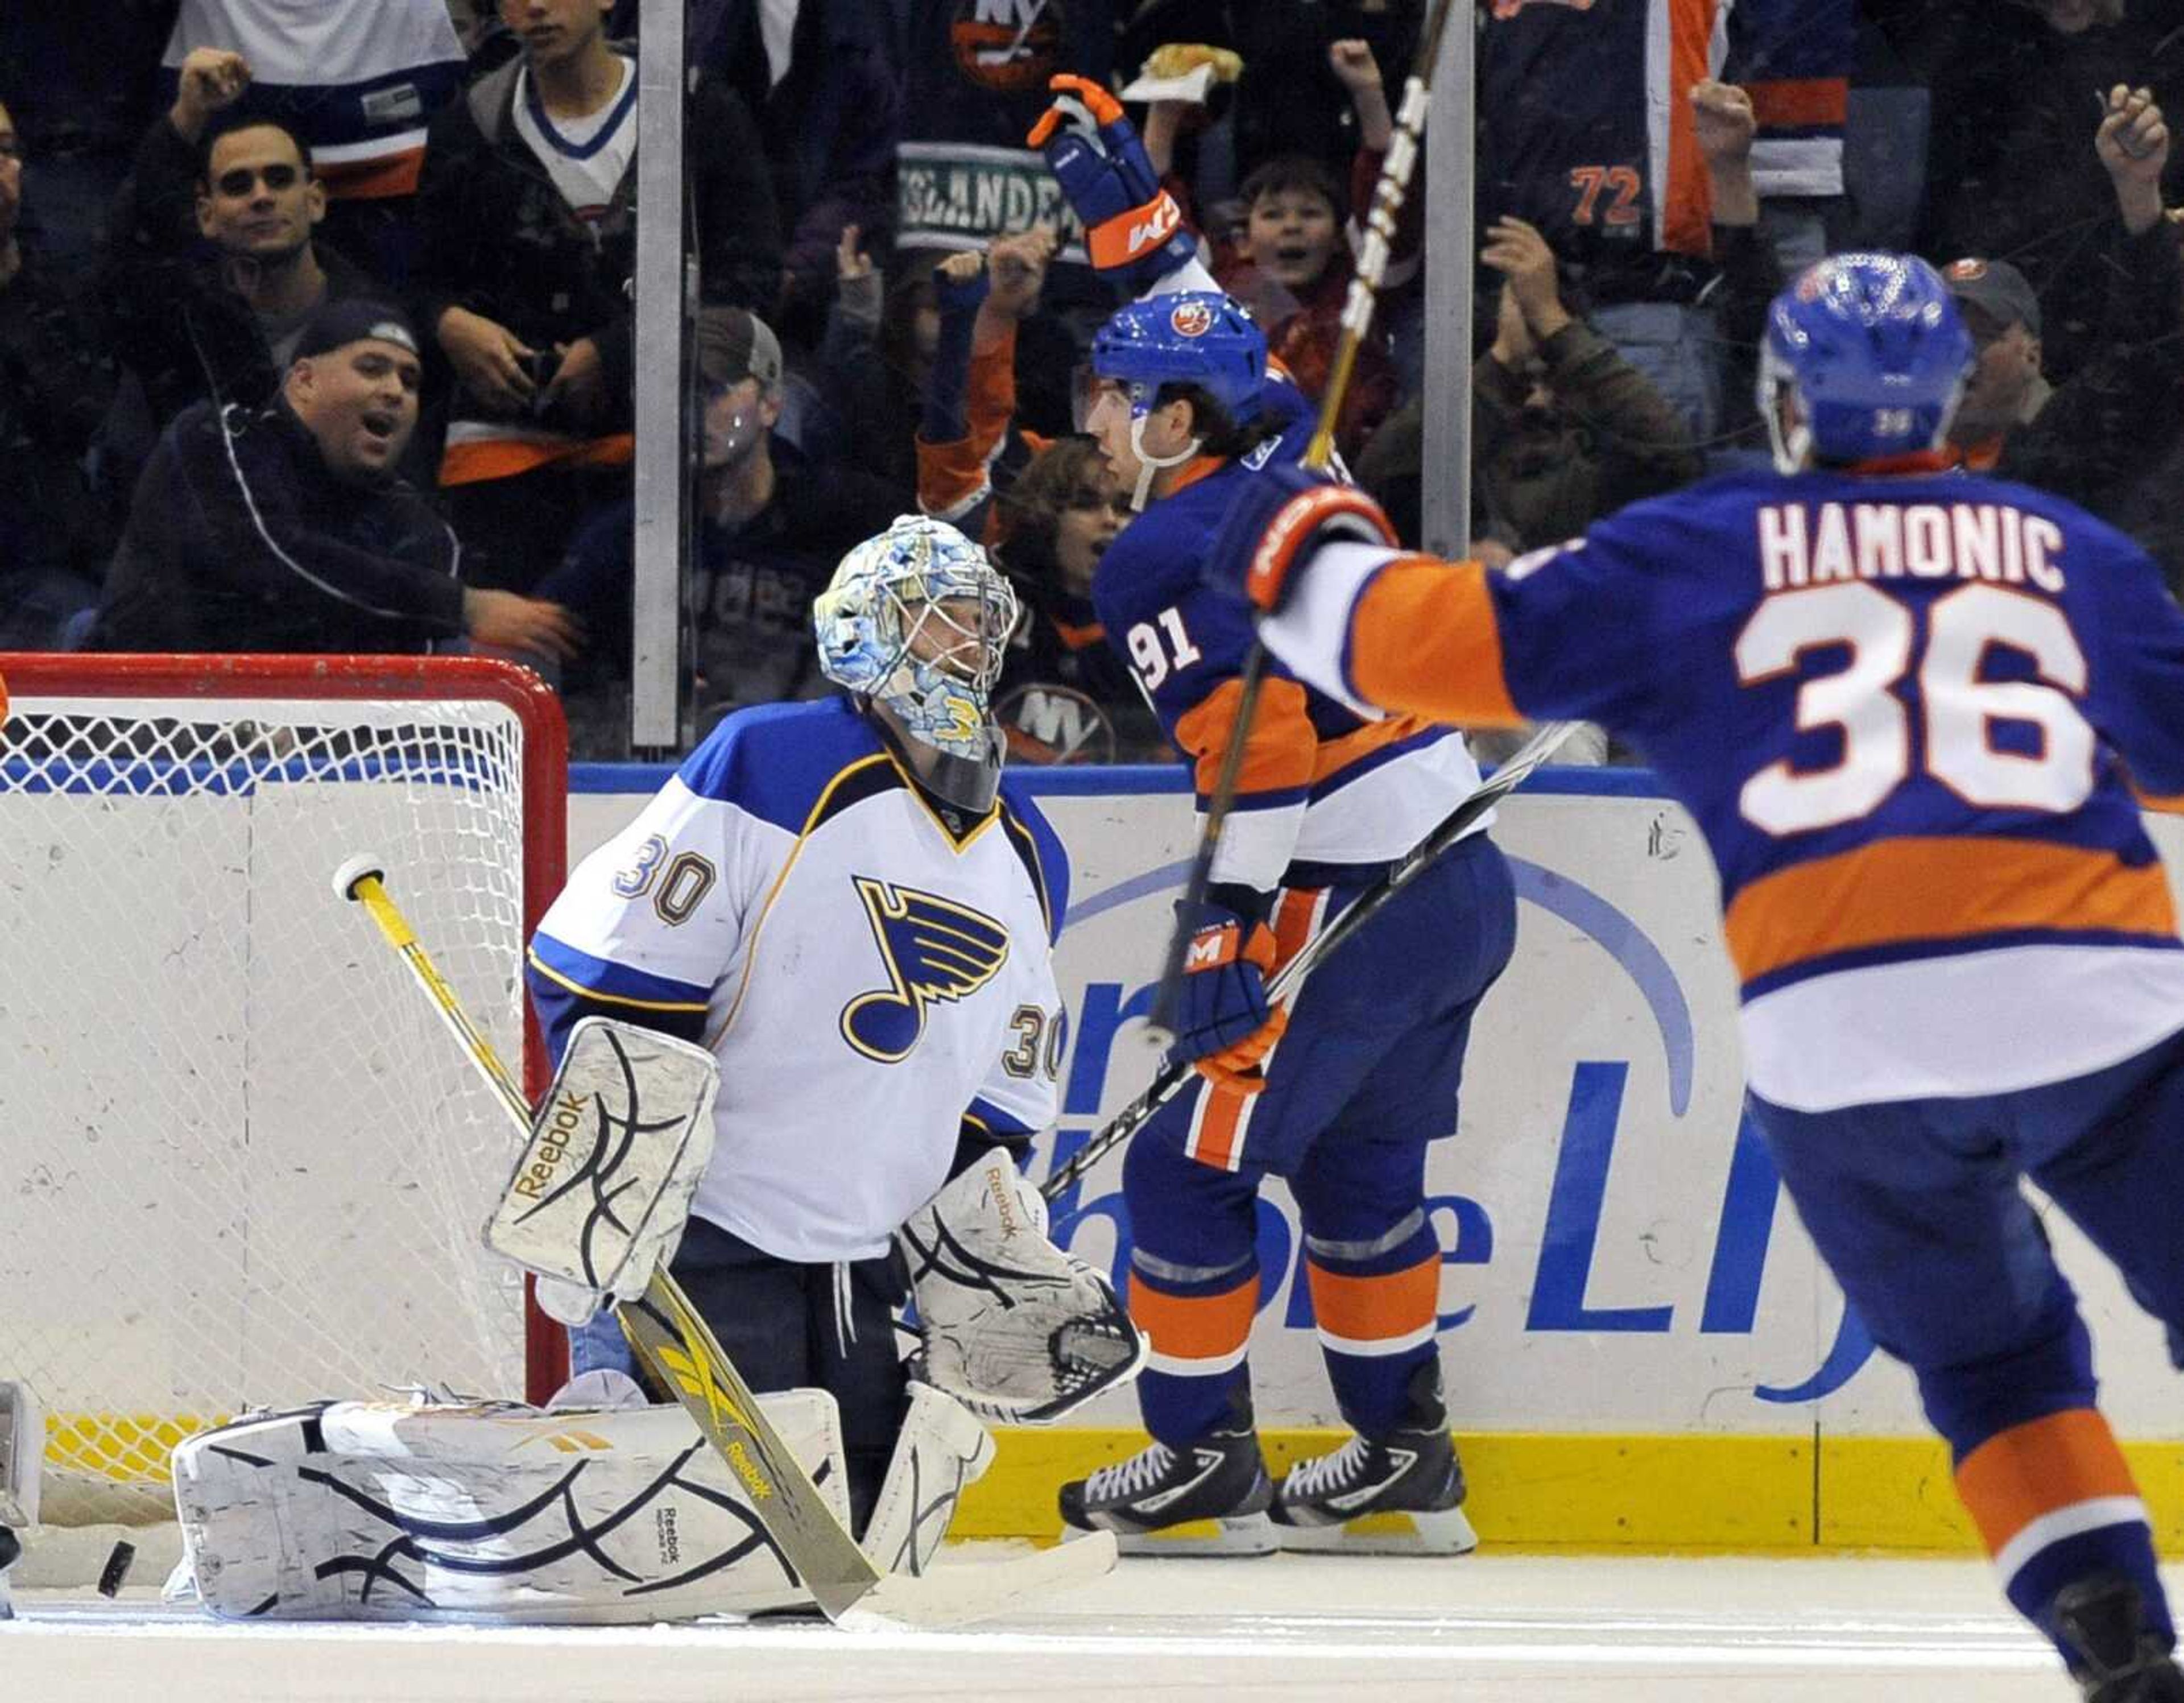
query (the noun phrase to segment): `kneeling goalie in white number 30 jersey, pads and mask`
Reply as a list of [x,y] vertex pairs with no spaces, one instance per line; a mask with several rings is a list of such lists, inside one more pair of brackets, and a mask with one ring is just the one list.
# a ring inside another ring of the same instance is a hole
[[572,1325],[572,1389],[190,1439],[175,1498],[210,1611],[804,1605],[738,1474],[638,1393],[609,1308],[655,1269],[882,1570],[926,1568],[992,1461],[983,1419],[1051,1421],[1136,1375],[1142,1338],[1011,1155],[1055,1114],[1068,891],[1000,784],[1013,594],[904,517],[845,557],[815,624],[847,696],[723,720],[533,941],[559,1072],[487,1242]]

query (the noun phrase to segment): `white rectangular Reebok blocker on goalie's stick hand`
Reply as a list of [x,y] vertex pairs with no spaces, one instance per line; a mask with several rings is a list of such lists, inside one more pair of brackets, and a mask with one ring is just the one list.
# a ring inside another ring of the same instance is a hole
[[553,1087],[485,1244],[542,1279],[539,1306],[585,1323],[609,1295],[644,1293],[675,1258],[712,1159],[721,1063],[705,1048],[612,1017],[570,1031]]

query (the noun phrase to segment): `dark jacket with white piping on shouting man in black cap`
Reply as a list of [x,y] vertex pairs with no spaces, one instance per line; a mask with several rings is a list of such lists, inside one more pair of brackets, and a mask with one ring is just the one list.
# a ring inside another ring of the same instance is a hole
[[424,651],[463,631],[461,546],[400,480],[334,478],[286,402],[159,437],[94,651]]

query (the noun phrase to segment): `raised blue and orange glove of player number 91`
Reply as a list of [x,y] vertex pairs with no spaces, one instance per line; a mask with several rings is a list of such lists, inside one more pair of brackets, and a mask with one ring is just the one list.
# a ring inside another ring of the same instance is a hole
[[1024,138],[1046,153],[1061,192],[1085,227],[1092,264],[1131,295],[1142,295],[1177,266],[1197,260],[1199,245],[1184,210],[1160,188],[1123,103],[1090,76],[1055,76],[1055,103]]

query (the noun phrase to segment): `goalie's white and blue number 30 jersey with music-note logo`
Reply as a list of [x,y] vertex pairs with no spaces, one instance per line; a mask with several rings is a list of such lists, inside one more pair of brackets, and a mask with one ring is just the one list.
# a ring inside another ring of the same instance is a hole
[[721,1059],[695,1212],[782,1260],[860,1260],[946,1181],[965,1114],[1055,1114],[1068,867],[1005,782],[952,832],[847,703],[723,720],[570,876],[533,980],[703,1011]]

